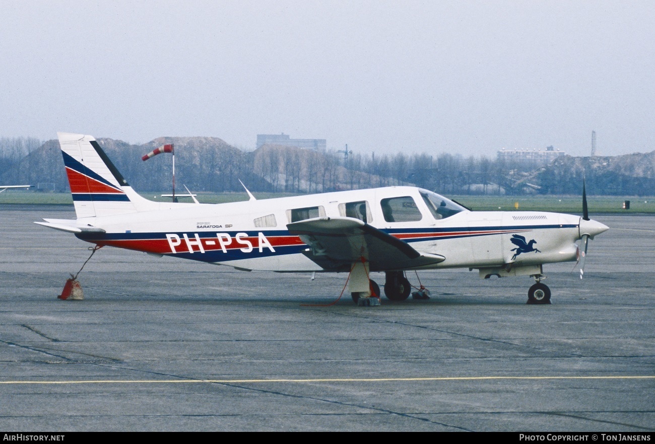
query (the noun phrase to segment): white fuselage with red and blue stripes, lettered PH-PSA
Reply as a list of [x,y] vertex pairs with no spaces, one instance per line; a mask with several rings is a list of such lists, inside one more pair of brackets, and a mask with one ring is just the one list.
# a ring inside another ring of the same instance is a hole
[[[400,199],[401,210],[411,213],[400,221],[388,221],[390,217],[384,214],[383,200],[393,202],[394,198]],[[579,216],[460,210],[437,219],[428,208],[429,202],[422,198],[421,190],[415,187],[228,204],[178,204],[179,207],[134,213],[130,217],[86,218],[90,225],[102,227],[105,233],[77,236],[98,245],[248,270],[324,271],[303,254],[307,245],[299,236],[290,234],[286,225],[299,217],[349,217],[348,204],[363,202],[368,212],[365,223],[407,242],[421,253],[445,257],[441,263],[416,268],[483,268],[508,264],[519,267],[576,260]],[[363,217],[361,213],[352,215]],[[85,222],[84,218],[78,219],[78,223]],[[534,241],[534,250],[513,251],[516,246],[511,240],[515,234]]]

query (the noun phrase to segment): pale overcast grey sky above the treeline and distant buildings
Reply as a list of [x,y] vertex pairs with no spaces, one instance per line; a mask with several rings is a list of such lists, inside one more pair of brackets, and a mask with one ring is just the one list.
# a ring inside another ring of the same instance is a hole
[[0,136],[655,150],[653,1],[0,0]]

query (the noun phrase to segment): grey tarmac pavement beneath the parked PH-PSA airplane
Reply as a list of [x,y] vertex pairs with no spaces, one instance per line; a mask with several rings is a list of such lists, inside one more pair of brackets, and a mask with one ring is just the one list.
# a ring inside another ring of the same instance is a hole
[[[419,272],[429,301],[334,305],[345,274],[103,248],[0,208],[0,430],[655,430],[655,217],[597,216],[584,280]],[[383,274],[373,274],[379,284]],[[418,284],[408,273],[412,284]]]

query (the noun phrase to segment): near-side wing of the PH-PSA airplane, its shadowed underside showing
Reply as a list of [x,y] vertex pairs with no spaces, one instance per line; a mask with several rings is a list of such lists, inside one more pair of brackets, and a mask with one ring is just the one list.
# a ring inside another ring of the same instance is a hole
[[445,257],[419,253],[394,238],[352,217],[316,217],[287,225],[291,234],[308,248],[304,254],[326,270],[350,270],[365,257],[371,271],[420,268],[445,261]]

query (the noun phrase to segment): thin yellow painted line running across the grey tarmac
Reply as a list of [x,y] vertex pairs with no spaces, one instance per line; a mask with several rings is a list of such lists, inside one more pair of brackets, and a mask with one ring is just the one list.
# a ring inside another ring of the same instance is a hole
[[100,380],[7,380],[0,384],[245,384],[261,382],[421,382],[457,380],[548,380],[548,379],[655,379],[655,376],[477,376],[427,378],[314,378],[314,379],[100,379]]

